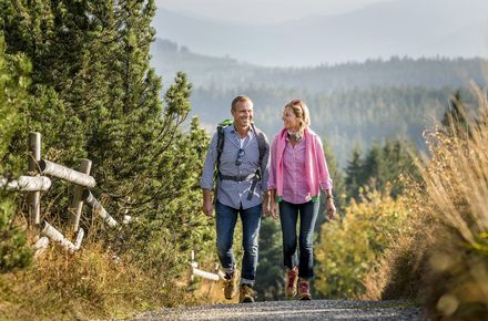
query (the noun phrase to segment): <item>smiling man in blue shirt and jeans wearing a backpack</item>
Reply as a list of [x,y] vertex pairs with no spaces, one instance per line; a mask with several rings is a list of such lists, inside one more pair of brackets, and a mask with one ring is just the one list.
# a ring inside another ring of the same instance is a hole
[[[224,294],[227,300],[235,297],[238,288],[240,272],[236,270],[232,246],[237,215],[241,216],[244,256],[240,302],[254,302],[261,216],[270,211],[266,193],[270,144],[264,133],[252,124],[253,102],[250,97],[235,97],[231,113],[233,124],[223,128],[223,135],[215,133],[206,153],[200,182],[203,213],[212,217],[215,204],[217,255],[225,271]],[[220,142],[223,142],[223,148]],[[213,200],[215,167],[216,195]]]

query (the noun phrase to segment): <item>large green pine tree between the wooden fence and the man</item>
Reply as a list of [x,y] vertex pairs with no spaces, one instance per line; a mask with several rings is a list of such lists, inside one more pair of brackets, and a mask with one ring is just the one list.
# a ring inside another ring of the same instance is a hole
[[[195,151],[209,138],[197,121],[190,133],[181,130],[191,94],[183,73],[161,99],[149,54],[154,1],[0,1],[8,50],[32,60],[33,99],[23,114],[29,131],[43,134],[43,156],[73,168],[90,158],[92,193],[115,219],[139,218],[128,234],[132,244],[119,250],[153,268],[151,260],[167,258],[169,272],[187,259],[180,248],[207,250],[211,227],[196,216],[203,155]],[[18,135],[18,153],[27,132]],[[49,216],[68,213],[65,186],[44,197],[57,199]],[[92,226],[88,214],[84,228]]]

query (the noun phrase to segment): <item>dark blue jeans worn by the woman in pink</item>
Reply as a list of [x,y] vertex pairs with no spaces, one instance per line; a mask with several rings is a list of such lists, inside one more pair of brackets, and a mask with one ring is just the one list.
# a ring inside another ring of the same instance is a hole
[[[318,216],[318,201],[293,204],[279,201],[279,220],[283,232],[284,265],[288,269],[298,266],[298,277],[311,279],[314,277],[313,237],[315,221]],[[299,215],[299,261],[296,247],[296,222]]]

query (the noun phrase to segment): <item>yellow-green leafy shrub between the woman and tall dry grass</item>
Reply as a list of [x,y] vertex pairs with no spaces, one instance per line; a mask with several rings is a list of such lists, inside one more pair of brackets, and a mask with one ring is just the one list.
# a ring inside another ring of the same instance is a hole
[[364,294],[367,272],[401,231],[407,216],[401,197],[373,190],[364,201],[353,201],[343,220],[325,224],[316,247],[316,291],[327,298]]

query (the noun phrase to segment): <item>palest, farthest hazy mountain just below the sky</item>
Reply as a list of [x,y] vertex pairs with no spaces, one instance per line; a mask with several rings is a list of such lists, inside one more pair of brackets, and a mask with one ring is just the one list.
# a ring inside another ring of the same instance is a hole
[[398,56],[480,56],[488,1],[400,0],[274,25],[211,21],[159,10],[161,39],[197,53],[261,65],[304,66]]

